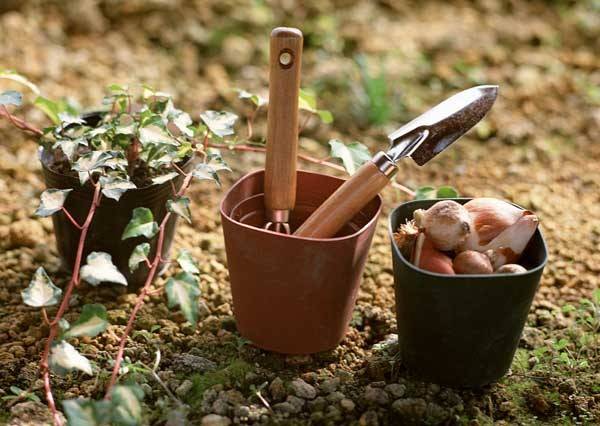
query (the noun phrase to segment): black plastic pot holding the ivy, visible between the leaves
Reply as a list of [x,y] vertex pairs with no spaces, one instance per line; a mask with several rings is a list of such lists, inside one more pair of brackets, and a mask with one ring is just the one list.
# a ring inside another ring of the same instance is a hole
[[[83,116],[92,126],[97,124],[100,117],[99,113],[91,113]],[[52,158],[51,156],[51,152],[40,149],[40,162],[42,163],[42,172],[46,187],[73,189],[67,197],[65,208],[77,222],[83,223],[92,202],[93,187],[89,183],[81,186],[77,178],[51,170],[48,167]],[[183,168],[190,168],[192,163],[193,160],[189,160],[184,164]],[[182,182],[183,177],[181,175],[178,175],[172,181],[176,188],[179,188]],[[160,223],[167,213],[166,202],[170,197],[172,197],[171,182],[145,188],[130,189],[121,196],[118,202],[107,197],[102,197],[100,206],[96,210],[88,231],[84,245],[83,262],[85,262],[86,256],[92,251],[106,252],[112,256],[115,266],[127,278],[130,289],[135,290],[142,286],[148,275],[148,267],[144,263],[140,263],[139,268],[134,273],[131,273],[128,261],[135,246],[147,240],[143,237],[121,240],[121,235],[136,207],[150,209],[154,215],[154,220]],[[77,253],[79,230],[71,224],[63,212],[57,212],[52,215],[52,222],[56,236],[56,248],[61,257],[62,265],[65,269],[71,270]],[[161,253],[164,259],[163,266],[169,259],[176,223],[177,215],[171,215],[165,227],[165,238]],[[156,238],[150,242],[150,256],[154,256],[155,253]],[[161,266],[161,269],[163,266]]]

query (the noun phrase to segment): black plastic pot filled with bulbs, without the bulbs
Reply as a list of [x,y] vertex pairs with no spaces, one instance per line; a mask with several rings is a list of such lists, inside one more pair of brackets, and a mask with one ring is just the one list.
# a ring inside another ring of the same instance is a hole
[[523,274],[424,271],[402,256],[392,234],[416,209],[436,201],[404,203],[390,215],[402,363],[426,381],[479,387],[497,381],[510,368],[546,265],[546,244],[538,229],[520,261],[528,269]]

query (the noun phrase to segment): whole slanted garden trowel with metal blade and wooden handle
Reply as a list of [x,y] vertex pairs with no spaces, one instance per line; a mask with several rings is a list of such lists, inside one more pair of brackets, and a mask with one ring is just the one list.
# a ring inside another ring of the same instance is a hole
[[391,148],[379,152],[315,210],[294,232],[300,237],[330,238],[373,199],[411,157],[427,163],[477,124],[491,109],[498,86],[472,87],[446,99],[388,135]]

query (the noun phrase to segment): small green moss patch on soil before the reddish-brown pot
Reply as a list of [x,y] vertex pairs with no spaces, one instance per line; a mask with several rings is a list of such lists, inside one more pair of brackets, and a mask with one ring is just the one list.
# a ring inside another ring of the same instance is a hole
[[209,371],[204,374],[194,374],[190,378],[193,386],[186,400],[192,405],[199,404],[202,402],[204,392],[219,384],[239,388],[243,385],[246,374],[253,369],[254,367],[251,364],[241,359],[236,359],[220,370]]

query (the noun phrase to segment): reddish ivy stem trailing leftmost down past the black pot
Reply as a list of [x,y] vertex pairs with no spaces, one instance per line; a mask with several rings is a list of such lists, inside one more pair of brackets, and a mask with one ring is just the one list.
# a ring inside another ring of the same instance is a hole
[[94,218],[94,214],[96,213],[96,208],[100,204],[100,197],[102,196],[100,189],[100,184],[94,184],[94,196],[92,199],[92,204],[90,205],[90,208],[88,210],[88,215],[85,219],[85,222],[81,226],[81,233],[79,234],[79,244],[77,246],[77,254],[75,255],[75,264],[73,265],[73,273],[71,274],[71,280],[67,285],[65,295],[62,298],[62,301],[60,303],[60,306],[58,307],[58,311],[56,312],[54,319],[52,320],[52,322],[49,322],[50,332],[48,334],[48,338],[46,339],[44,352],[42,353],[42,359],[40,361],[40,372],[44,382],[46,401],[48,403],[48,408],[50,408],[50,411],[52,412],[52,419],[54,420],[55,426],[62,426],[63,422],[58,410],[56,409],[56,404],[52,395],[52,386],[50,384],[50,349],[52,348],[52,342],[58,334],[58,322],[61,320],[61,318],[69,308],[71,293],[73,292],[73,289],[79,284],[79,268],[81,266],[81,259],[83,257],[83,246],[85,244],[85,238],[92,223],[92,219]]

